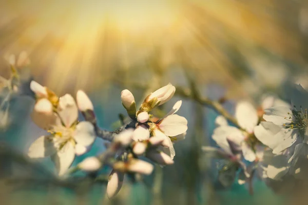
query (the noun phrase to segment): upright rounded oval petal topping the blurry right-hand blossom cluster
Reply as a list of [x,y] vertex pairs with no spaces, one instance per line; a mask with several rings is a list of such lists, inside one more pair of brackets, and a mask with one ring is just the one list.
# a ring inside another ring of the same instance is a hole
[[248,132],[252,132],[259,121],[256,108],[247,101],[241,101],[237,104],[235,118],[240,127],[246,129]]

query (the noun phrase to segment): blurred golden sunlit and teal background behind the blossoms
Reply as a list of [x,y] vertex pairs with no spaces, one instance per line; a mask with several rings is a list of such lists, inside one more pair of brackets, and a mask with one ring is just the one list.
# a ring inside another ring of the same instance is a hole
[[[0,75],[10,75],[10,54],[26,51],[28,69],[38,83],[59,96],[85,90],[99,125],[113,130],[119,126],[119,114],[125,114],[123,89],[141,103],[168,83],[185,89],[194,81],[202,96],[223,101],[233,113],[239,99],[258,107],[264,94],[285,98],[283,90],[291,83],[308,88],[307,36],[308,2],[303,0],[4,0]],[[230,188],[218,185],[219,161],[209,161],[200,152],[201,145],[214,145],[210,136],[217,113],[176,93],[155,114],[162,115],[179,99],[179,115],[188,119],[188,131],[175,145],[175,164],[156,167],[143,182],[127,179],[115,199],[107,199],[104,183],[89,186],[83,181],[71,189],[33,181],[29,176],[44,175],[41,167],[35,171],[4,157],[0,174],[11,180],[1,180],[0,198],[4,204],[288,203],[289,197],[258,179],[254,195],[237,183]],[[11,100],[1,144],[27,153],[31,142],[44,134],[31,122],[33,103],[28,97]],[[91,152],[74,164],[102,152],[104,143],[97,139]],[[50,159],[42,160],[42,167],[54,169]]]

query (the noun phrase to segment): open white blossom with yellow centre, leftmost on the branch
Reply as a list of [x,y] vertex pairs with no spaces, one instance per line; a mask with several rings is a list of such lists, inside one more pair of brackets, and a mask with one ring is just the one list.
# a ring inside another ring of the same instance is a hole
[[[63,175],[71,166],[78,147],[88,147],[95,140],[94,127],[90,122],[77,123],[78,109],[73,97],[64,95],[59,101],[55,122],[48,126],[50,135],[41,136],[33,142],[28,155],[31,158],[51,155],[59,175]],[[86,151],[87,149],[84,149]]]

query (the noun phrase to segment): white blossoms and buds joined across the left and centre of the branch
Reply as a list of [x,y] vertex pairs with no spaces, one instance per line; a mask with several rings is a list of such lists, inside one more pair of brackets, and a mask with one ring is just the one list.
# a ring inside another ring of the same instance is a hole
[[[122,91],[122,104],[131,122],[114,132],[101,130],[97,126],[93,105],[85,92],[77,92],[75,103],[70,94],[58,97],[35,81],[31,81],[30,89],[36,100],[31,114],[32,120],[48,134],[33,142],[28,156],[50,156],[57,173],[64,175],[75,156],[89,151],[96,137],[109,140],[110,144],[105,152],[99,156],[88,157],[77,166],[86,172],[97,172],[103,166],[110,166],[112,172],[107,186],[109,198],[120,191],[124,173],[152,172],[152,163],[141,160],[140,157],[146,157],[161,166],[174,163],[173,143],[184,139],[186,134],[187,120],[175,114],[182,101],[178,101],[161,119],[155,120],[156,118],[149,114],[152,109],[166,103],[174,95],[175,87],[171,84],[148,95],[138,111],[131,92]],[[79,111],[85,121],[78,120]]]

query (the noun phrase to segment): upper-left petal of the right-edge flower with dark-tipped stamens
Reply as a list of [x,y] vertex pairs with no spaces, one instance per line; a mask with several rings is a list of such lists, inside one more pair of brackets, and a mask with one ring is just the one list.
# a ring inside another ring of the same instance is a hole
[[263,119],[268,122],[273,122],[275,125],[283,125],[285,123],[290,122],[288,119],[292,114],[292,111],[289,107],[279,106],[273,107],[264,110],[265,114],[263,115]]

